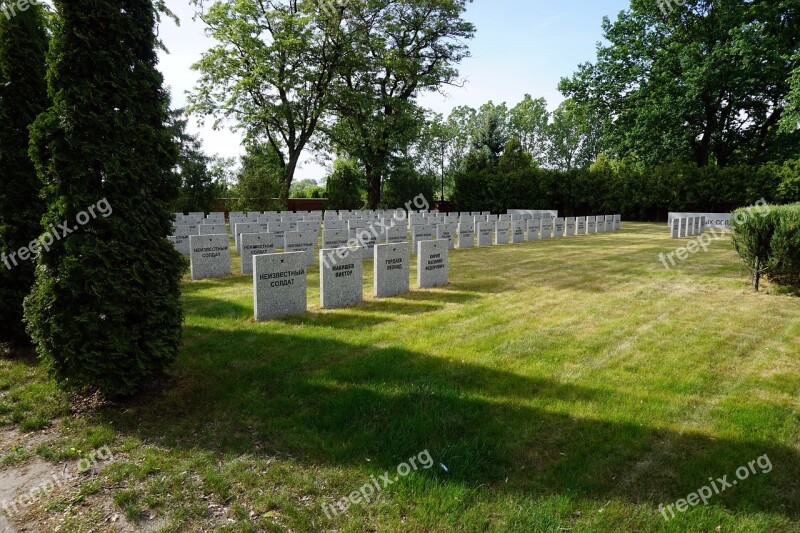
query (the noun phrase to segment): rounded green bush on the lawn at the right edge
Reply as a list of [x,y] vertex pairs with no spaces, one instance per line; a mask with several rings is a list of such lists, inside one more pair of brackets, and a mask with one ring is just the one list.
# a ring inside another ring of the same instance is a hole
[[800,204],[739,209],[731,227],[756,291],[762,277],[800,289]]

